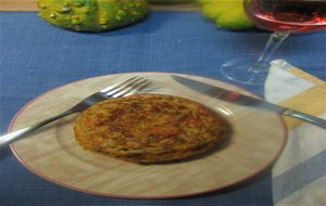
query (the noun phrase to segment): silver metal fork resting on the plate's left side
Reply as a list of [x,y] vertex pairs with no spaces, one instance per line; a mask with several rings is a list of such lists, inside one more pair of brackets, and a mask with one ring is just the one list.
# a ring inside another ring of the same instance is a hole
[[37,130],[38,128],[48,125],[57,119],[65,117],[71,114],[79,113],[88,108],[89,106],[99,103],[103,100],[113,99],[113,98],[121,98],[125,95],[131,95],[139,92],[141,89],[149,85],[148,79],[143,77],[131,77],[129,79],[116,82],[112,86],[109,86],[89,96],[82,100],[75,106],[71,107],[70,110],[60,113],[53,117],[39,121],[33,126],[20,129],[17,131],[13,131],[11,133],[7,133],[0,137],[0,149],[8,146],[10,143],[13,143],[17,140],[26,138],[27,134],[32,133],[33,131]]

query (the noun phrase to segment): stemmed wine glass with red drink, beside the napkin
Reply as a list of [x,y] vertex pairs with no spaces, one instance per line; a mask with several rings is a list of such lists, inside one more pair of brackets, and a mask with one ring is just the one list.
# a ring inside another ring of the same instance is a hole
[[326,28],[326,0],[244,0],[243,8],[259,28],[274,33],[261,56],[236,59],[222,65],[222,74],[240,83],[264,83],[272,55],[289,34]]

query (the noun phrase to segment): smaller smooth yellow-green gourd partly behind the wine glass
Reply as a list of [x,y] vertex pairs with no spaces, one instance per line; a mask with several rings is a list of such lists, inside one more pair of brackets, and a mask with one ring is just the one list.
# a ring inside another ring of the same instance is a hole
[[203,16],[216,23],[216,26],[244,30],[254,28],[254,24],[243,11],[243,0],[198,0]]

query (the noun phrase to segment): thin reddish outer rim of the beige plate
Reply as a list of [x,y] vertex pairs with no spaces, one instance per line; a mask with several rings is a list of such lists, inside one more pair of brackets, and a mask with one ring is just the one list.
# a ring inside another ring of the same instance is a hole
[[[26,107],[28,107],[30,104],[33,104],[35,101],[39,100],[40,98],[42,98],[43,95],[46,95],[47,93],[50,93],[51,91],[53,90],[57,90],[57,89],[60,89],[60,88],[63,88],[63,87],[66,87],[68,85],[73,85],[73,83],[76,83],[76,82],[79,82],[79,81],[85,81],[85,80],[89,80],[89,79],[96,79],[96,78],[100,78],[100,77],[105,77],[105,76],[115,76],[115,75],[133,75],[133,74],[147,74],[147,75],[150,75],[150,74],[165,74],[165,75],[181,75],[181,76],[189,76],[189,77],[193,77],[193,78],[204,78],[204,79],[210,79],[212,81],[220,81],[222,83],[225,83],[225,85],[229,85],[231,87],[235,87],[237,89],[240,89],[242,91],[246,91],[248,93],[250,93],[251,95],[253,96],[256,96],[259,98],[258,95],[255,95],[253,92],[249,91],[248,89],[246,88],[241,88],[237,85],[233,85],[233,83],[229,83],[229,82],[225,82],[223,80],[220,80],[220,79],[215,79],[215,78],[210,78],[210,77],[205,77],[205,76],[199,76],[199,75],[193,75],[193,74],[183,74],[183,73],[165,73],[165,72],[131,72],[131,73],[113,73],[113,74],[104,74],[104,75],[98,75],[98,76],[92,76],[92,77],[87,77],[87,78],[83,78],[83,79],[77,79],[77,80],[73,80],[73,81],[70,81],[70,82],[66,82],[66,83],[63,83],[63,85],[60,85],[58,87],[53,87],[49,90],[47,90],[46,92],[42,92],[38,95],[36,95],[35,98],[33,98],[32,100],[29,100],[26,104],[24,104],[20,110],[18,112],[13,116],[13,118],[11,119],[10,124],[9,124],[9,128],[8,128],[8,132],[11,132],[13,130],[13,127],[14,127],[14,124],[15,121],[17,120],[17,118],[20,117],[20,115],[26,110]],[[197,196],[197,195],[201,195],[201,194],[209,194],[209,193],[212,193],[212,192],[218,192],[218,191],[223,191],[227,188],[230,188],[230,186],[234,186],[234,185],[239,185],[241,183],[244,183],[251,179],[253,179],[255,176],[262,173],[263,171],[265,171],[267,168],[272,167],[276,160],[279,158],[280,154],[283,153],[286,144],[287,144],[287,141],[288,141],[288,128],[286,126],[286,121],[284,120],[284,118],[281,118],[280,115],[277,115],[275,114],[278,119],[279,119],[279,123],[281,125],[281,130],[283,130],[283,142],[281,142],[281,145],[279,147],[279,150],[277,151],[277,153],[274,155],[274,157],[267,162],[264,166],[262,166],[260,169],[255,170],[254,172],[250,173],[249,176],[246,176],[243,177],[242,179],[239,179],[237,181],[234,181],[234,182],[230,182],[228,184],[224,184],[224,185],[218,185],[216,188],[212,188],[210,190],[204,190],[204,191],[199,191],[199,192],[191,192],[191,193],[187,193],[185,192],[185,194],[176,194],[176,195],[150,195],[150,196],[141,196],[141,195],[118,195],[118,194],[108,194],[108,193],[102,193],[102,192],[95,192],[95,191],[90,191],[90,190],[87,190],[87,189],[80,189],[80,188],[77,188],[77,186],[74,186],[74,185],[70,185],[70,184],[66,184],[66,183],[63,183],[63,182],[60,182],[58,180],[54,180],[54,179],[51,179],[38,171],[36,171],[34,168],[29,167],[28,164],[26,164],[23,158],[16,153],[15,151],[15,147],[13,144],[10,144],[10,150],[11,152],[13,153],[13,155],[15,156],[15,158],[27,169],[29,170],[30,172],[33,172],[34,175],[38,176],[39,178],[50,182],[50,183],[53,183],[53,184],[57,184],[57,185],[60,185],[60,186],[63,186],[65,189],[70,189],[70,190],[73,190],[73,191],[78,191],[78,192],[83,192],[83,193],[86,193],[86,194],[93,194],[93,195],[99,195],[99,196],[105,196],[105,197],[117,197],[117,198],[134,198],[134,199],[164,199],[164,198],[179,198],[179,197],[188,197],[188,196]]]

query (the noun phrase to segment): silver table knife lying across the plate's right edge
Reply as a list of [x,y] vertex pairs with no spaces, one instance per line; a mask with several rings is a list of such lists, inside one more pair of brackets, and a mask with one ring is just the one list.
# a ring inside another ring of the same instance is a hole
[[230,90],[227,90],[224,88],[208,85],[208,83],[197,81],[193,79],[189,79],[189,78],[185,78],[185,77],[176,76],[176,75],[171,75],[171,77],[175,81],[177,81],[184,86],[187,86],[188,88],[190,88],[195,91],[198,91],[200,93],[203,93],[205,95],[221,99],[221,100],[231,102],[235,104],[239,104],[239,105],[243,105],[243,106],[251,106],[251,107],[260,108],[263,111],[271,111],[271,112],[274,112],[274,113],[277,113],[280,115],[291,116],[291,117],[309,121],[311,124],[314,124],[316,126],[319,126],[319,127],[326,129],[326,120],[324,120],[322,118],[317,118],[312,115],[304,114],[304,113],[301,113],[301,112],[298,112],[298,111],[294,111],[291,108],[272,104],[272,103],[266,102],[261,99],[252,98],[252,96],[241,94],[236,91],[230,91]]

